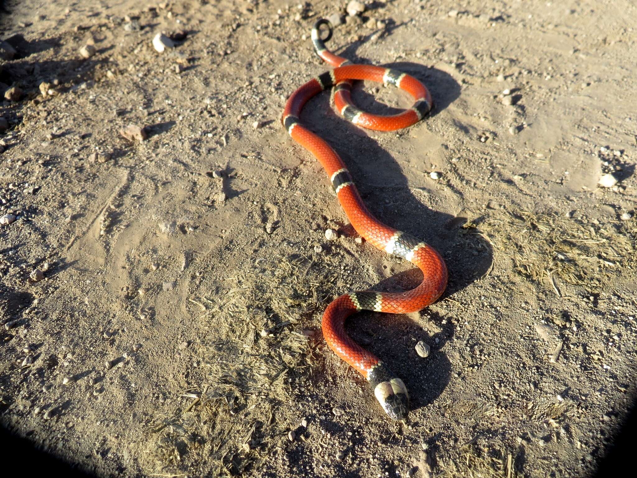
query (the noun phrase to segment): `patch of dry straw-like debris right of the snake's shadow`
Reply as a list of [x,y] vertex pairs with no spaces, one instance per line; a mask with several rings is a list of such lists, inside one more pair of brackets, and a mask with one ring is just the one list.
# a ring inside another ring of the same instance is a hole
[[554,277],[594,293],[622,270],[637,266],[634,221],[601,224],[555,212],[493,210],[463,228],[480,231],[494,249],[510,257],[515,272],[550,284],[558,295]]

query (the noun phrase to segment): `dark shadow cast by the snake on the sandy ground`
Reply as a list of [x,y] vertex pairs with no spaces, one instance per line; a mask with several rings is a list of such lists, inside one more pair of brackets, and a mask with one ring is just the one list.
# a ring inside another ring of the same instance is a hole
[[[355,54],[363,41],[350,45],[338,54],[355,63],[369,63]],[[436,120],[436,115],[460,96],[459,83],[445,71],[412,62],[396,62],[383,66],[408,73],[427,86],[434,99],[434,110],[424,119],[425,122]],[[380,115],[400,111],[378,103],[371,94],[362,90],[361,83],[356,82],[352,91],[353,101],[361,110]],[[447,263],[449,280],[447,290],[439,301],[454,296],[485,275],[493,258],[489,242],[480,234],[470,233],[462,228],[466,218],[436,211],[424,205],[412,194],[408,179],[399,164],[400,159],[392,157],[370,136],[368,130],[354,126],[340,117],[329,103],[327,92],[312,98],[301,113],[301,122],[326,138],[340,154],[354,177],[364,203],[375,217],[426,241],[442,254]],[[405,136],[408,137],[408,129],[403,131],[407,131]],[[378,137],[382,138],[382,134]],[[420,156],[427,161],[426,154]],[[450,189],[460,198],[463,197],[462,187],[461,184],[450,185]],[[431,195],[434,196],[435,192],[431,191]],[[373,248],[371,245],[364,247]],[[413,289],[422,281],[422,273],[417,268],[394,273],[394,268],[401,269],[406,265],[387,260],[383,252],[378,251],[377,264],[378,275],[387,276],[389,272],[391,277],[373,285],[373,290],[404,291]],[[386,271],[385,268],[390,270]],[[338,294],[345,292],[338,291]],[[415,314],[408,317],[361,312],[350,317],[346,327],[350,337],[376,354],[404,380],[410,390],[411,417],[419,421],[424,420],[426,414],[413,412],[436,400],[447,387],[454,371],[454,365],[445,352],[445,344],[453,340],[455,325],[452,314],[439,314],[429,308],[422,310],[415,317],[416,320],[414,317]],[[431,354],[427,359],[420,358],[415,352],[415,344],[419,340],[431,346]],[[362,379],[361,385],[365,386]],[[373,396],[369,400],[371,402]],[[375,421],[376,414],[370,414],[370,419]],[[380,419],[386,421],[385,417]]]

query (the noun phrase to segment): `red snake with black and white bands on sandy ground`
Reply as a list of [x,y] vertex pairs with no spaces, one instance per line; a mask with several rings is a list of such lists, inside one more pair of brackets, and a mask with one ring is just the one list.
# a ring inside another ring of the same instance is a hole
[[[327,36],[321,38],[324,25],[327,27]],[[387,416],[406,423],[410,398],[403,380],[374,354],[348,336],[345,320],[361,310],[408,314],[427,307],[438,300],[447,287],[447,266],[433,247],[408,233],[383,224],[369,212],[343,160],[326,140],[303,126],[299,117],[310,98],[333,88],[334,106],[345,119],[357,126],[376,131],[395,131],[423,119],[433,108],[433,100],[425,85],[413,76],[392,68],[353,64],[329,51],[325,44],[332,37],[333,31],[331,22],[324,18],[313,25],[311,40],[314,50],[320,59],[334,68],[296,89],[287,99],[281,120],[292,139],[313,154],[323,166],[355,231],[377,249],[403,257],[422,271],[422,282],[409,291],[384,293],[366,290],[341,295],[327,306],[321,324],[327,345],[368,381]],[[352,103],[351,92],[355,80],[395,85],[410,94],[415,102],[412,108],[394,115],[363,112]]]

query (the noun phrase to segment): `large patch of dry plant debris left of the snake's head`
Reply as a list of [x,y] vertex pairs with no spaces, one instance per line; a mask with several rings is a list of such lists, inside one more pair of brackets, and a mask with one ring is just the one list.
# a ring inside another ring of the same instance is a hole
[[[276,417],[311,365],[301,325],[322,312],[335,278],[299,255],[257,259],[238,270],[244,273],[219,291],[222,301],[202,314],[215,333],[201,356],[206,386],[187,411],[149,430],[154,473],[192,472],[205,457],[216,461],[217,475],[239,475],[285,439],[287,428]],[[186,454],[189,465],[182,463]]]

